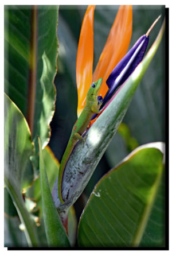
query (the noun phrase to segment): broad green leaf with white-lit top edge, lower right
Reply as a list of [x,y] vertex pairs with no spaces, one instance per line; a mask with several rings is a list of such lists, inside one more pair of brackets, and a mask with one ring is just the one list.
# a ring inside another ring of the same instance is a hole
[[[136,247],[146,232],[144,246],[165,246],[164,207],[153,218],[163,172],[163,154],[157,147],[140,146],[97,183],[80,218],[79,246]],[[156,235],[154,222],[160,222]]]

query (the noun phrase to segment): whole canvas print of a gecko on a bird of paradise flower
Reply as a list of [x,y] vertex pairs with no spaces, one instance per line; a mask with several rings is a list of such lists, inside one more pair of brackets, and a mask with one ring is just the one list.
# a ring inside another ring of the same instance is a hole
[[166,7],[4,18],[4,246],[167,249]]

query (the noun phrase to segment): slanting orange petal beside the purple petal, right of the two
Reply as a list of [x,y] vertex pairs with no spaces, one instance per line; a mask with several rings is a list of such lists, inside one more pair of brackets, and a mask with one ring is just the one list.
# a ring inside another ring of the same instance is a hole
[[103,97],[108,90],[105,82],[115,66],[122,57],[126,55],[131,40],[131,34],[132,6],[122,5],[119,7],[118,13],[116,14],[114,24],[112,25],[95,72],[93,73],[92,82],[100,77],[103,78],[100,89],[100,94]]

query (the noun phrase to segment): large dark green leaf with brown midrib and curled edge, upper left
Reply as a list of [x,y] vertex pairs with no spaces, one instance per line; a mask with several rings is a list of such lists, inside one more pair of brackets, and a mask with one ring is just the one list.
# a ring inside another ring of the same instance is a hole
[[57,6],[5,6],[5,92],[43,148],[56,99],[57,20]]

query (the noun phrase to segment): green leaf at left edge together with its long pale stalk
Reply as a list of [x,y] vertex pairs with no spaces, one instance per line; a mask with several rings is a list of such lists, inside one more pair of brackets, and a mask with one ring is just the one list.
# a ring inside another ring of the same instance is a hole
[[17,209],[29,246],[38,246],[36,226],[26,210],[21,192],[33,182],[29,157],[33,143],[28,123],[18,107],[5,95],[5,185]]

